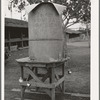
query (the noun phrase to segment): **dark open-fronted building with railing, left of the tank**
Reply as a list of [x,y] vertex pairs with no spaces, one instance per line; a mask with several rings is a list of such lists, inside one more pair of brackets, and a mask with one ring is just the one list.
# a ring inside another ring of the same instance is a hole
[[5,18],[5,47],[9,50],[28,46],[28,22]]

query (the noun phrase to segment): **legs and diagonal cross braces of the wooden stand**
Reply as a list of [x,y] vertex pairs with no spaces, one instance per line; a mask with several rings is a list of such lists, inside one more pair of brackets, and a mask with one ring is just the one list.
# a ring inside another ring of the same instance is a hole
[[[20,84],[21,84],[21,100],[24,100],[25,89],[28,85],[36,87],[37,90],[40,88],[44,88],[44,91],[51,97],[51,100],[55,100],[55,90],[56,90],[56,87],[58,87],[58,86],[63,95],[64,94],[64,64],[61,67],[62,75],[60,75],[60,76],[56,74],[55,66],[56,66],[55,64],[52,64],[52,67],[47,69],[47,72],[43,75],[43,77],[41,79],[38,76],[39,68],[38,69],[35,67],[30,68],[28,66],[23,68],[23,66],[21,66],[21,82],[20,82]],[[25,72],[27,72],[27,74],[29,74],[26,79],[24,78],[24,74],[25,74],[24,69],[25,69]],[[50,79],[50,83],[45,83],[47,78]],[[35,81],[30,81],[31,79],[34,79]]]

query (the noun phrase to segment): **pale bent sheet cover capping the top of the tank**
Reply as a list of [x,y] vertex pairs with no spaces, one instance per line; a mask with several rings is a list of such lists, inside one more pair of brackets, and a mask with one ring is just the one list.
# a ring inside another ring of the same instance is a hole
[[27,6],[27,7],[26,7],[26,12],[29,13],[29,12],[31,12],[33,9],[35,9],[37,6],[40,6],[40,5],[42,5],[42,4],[52,4],[52,5],[56,8],[56,10],[57,10],[57,12],[58,12],[59,14],[62,14],[63,10],[66,9],[66,6],[63,6],[63,5],[60,5],[60,4],[51,3],[51,2],[42,2],[42,3],[32,4],[32,5],[30,5],[30,6]]

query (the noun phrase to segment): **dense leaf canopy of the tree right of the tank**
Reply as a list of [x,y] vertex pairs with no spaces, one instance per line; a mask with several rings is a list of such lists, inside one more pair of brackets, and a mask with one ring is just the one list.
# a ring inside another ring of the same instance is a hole
[[[90,1],[89,0],[70,0],[63,3],[66,6],[64,11],[65,20],[67,22],[65,26],[69,27],[77,22],[90,22]],[[74,21],[70,24],[70,20]]]

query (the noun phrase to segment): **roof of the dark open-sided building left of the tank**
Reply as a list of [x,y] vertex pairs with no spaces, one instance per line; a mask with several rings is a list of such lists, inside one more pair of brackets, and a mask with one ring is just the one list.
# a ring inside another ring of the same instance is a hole
[[5,18],[5,26],[28,28],[28,22],[18,19]]

